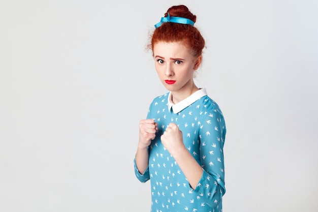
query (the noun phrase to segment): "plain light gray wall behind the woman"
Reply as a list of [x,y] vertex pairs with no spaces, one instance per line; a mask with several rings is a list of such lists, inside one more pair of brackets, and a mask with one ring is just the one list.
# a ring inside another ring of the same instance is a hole
[[145,45],[178,4],[226,118],[224,211],[316,211],[314,0],[0,1],[0,211],[149,211],[133,159],[166,90]]

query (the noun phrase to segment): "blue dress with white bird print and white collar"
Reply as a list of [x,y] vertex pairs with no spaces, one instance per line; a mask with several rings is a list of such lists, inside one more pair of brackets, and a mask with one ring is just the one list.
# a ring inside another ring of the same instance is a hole
[[[149,165],[141,174],[135,161],[135,174],[145,183],[150,179],[151,212],[222,211],[225,194],[223,146],[226,125],[218,105],[200,89],[177,104],[171,93],[156,97],[147,118],[158,123],[155,139],[148,146]],[[203,168],[196,188],[191,188],[160,137],[169,123],[182,131],[183,143]]]

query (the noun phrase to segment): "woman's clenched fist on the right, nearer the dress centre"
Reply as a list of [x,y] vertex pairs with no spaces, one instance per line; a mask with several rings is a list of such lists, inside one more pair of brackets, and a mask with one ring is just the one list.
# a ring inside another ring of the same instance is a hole
[[178,126],[174,123],[170,123],[166,128],[166,131],[161,136],[161,142],[164,144],[165,148],[169,153],[174,156],[179,150],[184,149],[182,132],[179,130]]

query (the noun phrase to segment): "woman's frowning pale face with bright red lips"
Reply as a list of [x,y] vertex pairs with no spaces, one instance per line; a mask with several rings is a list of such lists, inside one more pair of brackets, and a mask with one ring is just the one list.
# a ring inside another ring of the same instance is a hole
[[155,69],[165,87],[171,92],[188,93],[193,89],[194,72],[202,56],[194,56],[182,42],[159,42],[153,46]]

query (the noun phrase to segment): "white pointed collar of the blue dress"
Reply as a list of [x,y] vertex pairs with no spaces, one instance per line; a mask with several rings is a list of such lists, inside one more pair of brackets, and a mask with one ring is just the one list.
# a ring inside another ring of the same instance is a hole
[[187,106],[193,104],[195,101],[197,101],[198,99],[206,95],[208,95],[206,92],[206,89],[201,88],[197,90],[195,93],[193,93],[192,95],[190,95],[189,97],[185,98],[184,100],[178,102],[177,104],[173,104],[171,101],[171,92],[170,92],[168,96],[168,109],[170,111],[172,108],[173,113],[178,113],[184,108],[186,108]]

